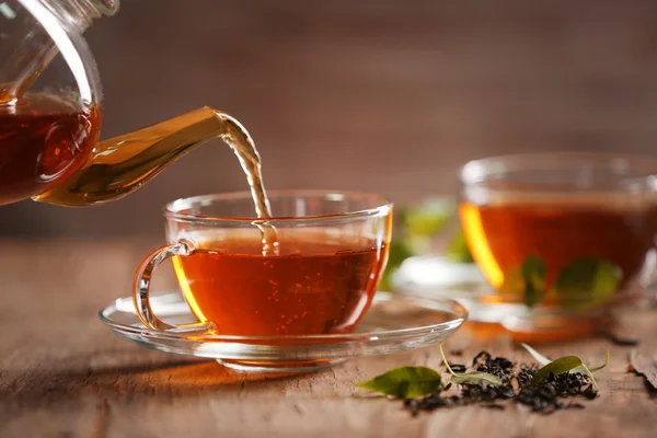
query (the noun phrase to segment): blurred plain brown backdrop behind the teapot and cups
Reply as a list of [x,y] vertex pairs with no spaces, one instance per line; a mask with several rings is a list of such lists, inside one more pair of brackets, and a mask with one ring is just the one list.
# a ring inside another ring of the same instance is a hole
[[[103,138],[210,105],[273,188],[451,195],[457,169],[529,150],[656,153],[657,2],[123,0],[87,37]],[[12,237],[162,233],[161,205],[245,189],[228,147],[116,204],[0,207]]]

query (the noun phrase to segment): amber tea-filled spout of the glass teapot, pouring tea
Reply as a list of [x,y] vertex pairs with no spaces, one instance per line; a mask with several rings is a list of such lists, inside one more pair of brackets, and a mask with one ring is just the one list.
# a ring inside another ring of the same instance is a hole
[[[260,155],[246,129],[230,115],[206,106],[97,143],[80,171],[33,199],[66,207],[120,199],[215,138],[233,149],[252,178],[260,178]],[[261,181],[249,183],[258,187]]]

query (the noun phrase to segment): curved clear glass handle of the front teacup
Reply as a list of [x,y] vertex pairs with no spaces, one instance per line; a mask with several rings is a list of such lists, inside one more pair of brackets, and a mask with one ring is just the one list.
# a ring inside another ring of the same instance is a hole
[[155,315],[150,306],[150,284],[155,268],[169,257],[192,255],[194,251],[192,242],[181,239],[177,243],[157,249],[139,265],[132,283],[132,302],[135,303],[137,316],[147,327],[175,333],[211,332],[215,330],[215,324],[211,322],[196,322],[181,325],[165,323]]

